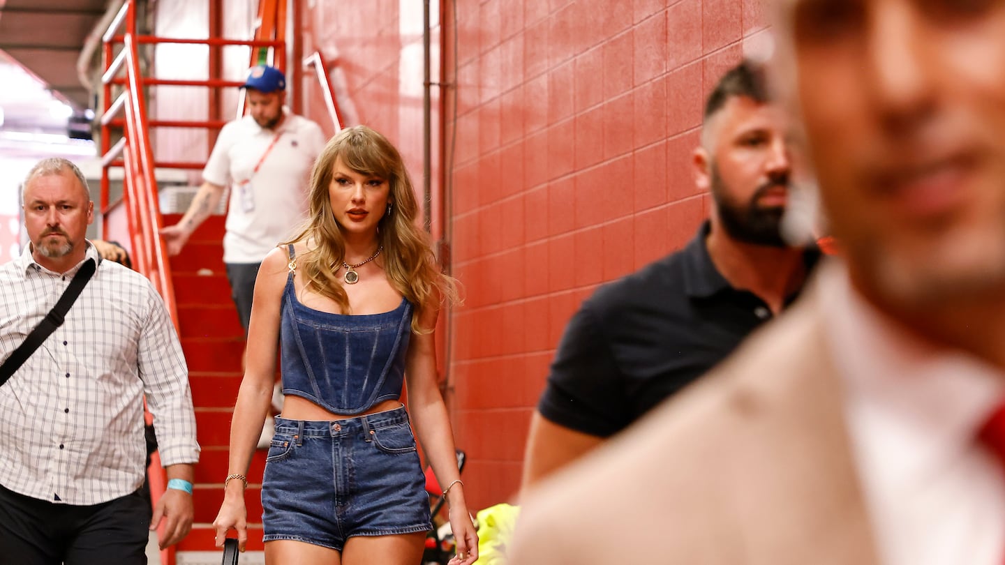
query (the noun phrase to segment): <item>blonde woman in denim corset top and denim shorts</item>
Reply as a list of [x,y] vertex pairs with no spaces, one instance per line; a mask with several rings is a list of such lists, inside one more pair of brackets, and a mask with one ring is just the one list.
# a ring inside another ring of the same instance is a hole
[[310,200],[307,225],[255,281],[216,543],[229,529],[242,549],[247,539],[246,475],[279,355],[285,399],[262,480],[265,561],[418,564],[432,526],[414,420],[447,486],[451,564],[469,565],[477,535],[436,386],[434,328],[454,287],[416,227],[401,156],[369,128],[344,130],[315,164]]

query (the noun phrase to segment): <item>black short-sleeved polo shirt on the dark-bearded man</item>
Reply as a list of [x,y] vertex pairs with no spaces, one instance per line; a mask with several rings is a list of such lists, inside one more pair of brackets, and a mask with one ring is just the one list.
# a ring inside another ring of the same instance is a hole
[[[772,318],[709,256],[708,221],[687,246],[587,299],[566,327],[538,410],[610,436],[695,380]],[[806,251],[811,269],[820,256]],[[797,295],[788,298],[791,304]]]

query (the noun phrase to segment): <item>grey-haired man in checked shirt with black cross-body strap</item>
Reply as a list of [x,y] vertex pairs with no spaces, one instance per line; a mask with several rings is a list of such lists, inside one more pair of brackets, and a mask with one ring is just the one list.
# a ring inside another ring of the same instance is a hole
[[[97,269],[65,323],[0,386],[0,560],[30,565],[145,564],[192,526],[199,458],[188,370],[164,302],[140,273],[84,239],[87,183],[65,159],[24,182],[31,244],[0,265],[0,360],[45,317],[85,260]],[[168,489],[144,482],[143,398],[154,414]]]

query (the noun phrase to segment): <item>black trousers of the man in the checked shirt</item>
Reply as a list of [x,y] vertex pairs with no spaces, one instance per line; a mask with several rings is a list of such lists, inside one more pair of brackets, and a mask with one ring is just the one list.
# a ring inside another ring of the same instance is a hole
[[0,487],[0,563],[147,565],[151,512],[139,491],[71,506]]

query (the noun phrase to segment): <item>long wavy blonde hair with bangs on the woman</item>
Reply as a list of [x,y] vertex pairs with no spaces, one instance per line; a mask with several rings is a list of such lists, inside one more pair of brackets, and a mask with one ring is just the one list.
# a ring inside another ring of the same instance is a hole
[[[439,307],[438,301],[456,302],[456,281],[440,269],[429,236],[416,225],[419,205],[401,154],[387,138],[366,126],[347,128],[329,140],[311,172],[308,220],[296,236],[283,243],[307,245],[308,252],[297,261],[303,265],[306,287],[334,300],[343,313],[350,313],[349,298],[335,275],[346,257],[342,227],[329,196],[338,159],[358,174],[388,182],[388,201],[393,206],[390,214],[380,210],[383,215],[377,241],[384,247],[381,258],[391,286],[419,312]],[[420,328],[418,319],[412,317],[412,332],[432,331]]]

